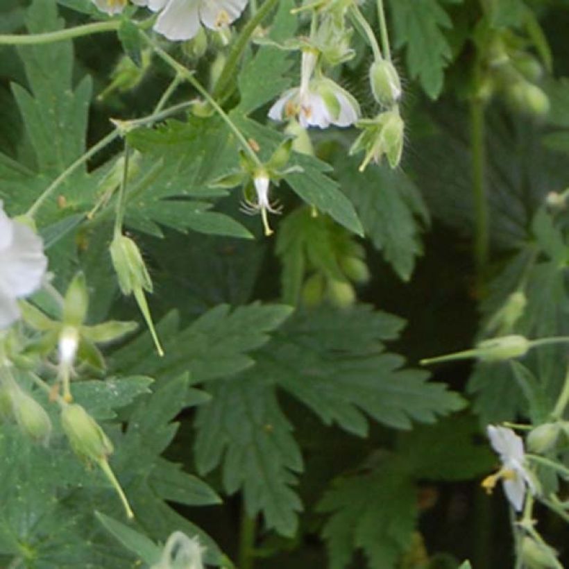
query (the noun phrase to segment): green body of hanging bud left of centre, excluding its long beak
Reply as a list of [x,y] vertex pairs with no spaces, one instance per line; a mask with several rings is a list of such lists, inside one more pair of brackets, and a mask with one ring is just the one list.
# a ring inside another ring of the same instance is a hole
[[135,289],[152,291],[152,280],[132,239],[126,235],[115,235],[110,244],[110,256],[123,294],[130,294]]

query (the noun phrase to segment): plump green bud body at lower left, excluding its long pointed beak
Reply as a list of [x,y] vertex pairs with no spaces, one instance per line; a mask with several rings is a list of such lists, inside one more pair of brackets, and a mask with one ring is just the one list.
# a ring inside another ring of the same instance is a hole
[[61,426],[78,457],[100,462],[112,453],[112,443],[94,418],[81,405],[65,405]]

